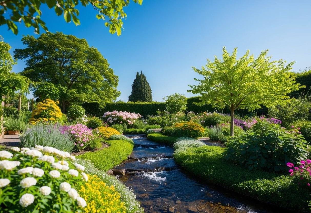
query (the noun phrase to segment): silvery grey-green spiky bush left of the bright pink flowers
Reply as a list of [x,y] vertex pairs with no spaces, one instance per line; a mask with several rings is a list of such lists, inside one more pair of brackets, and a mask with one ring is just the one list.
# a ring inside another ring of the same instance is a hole
[[60,131],[61,126],[56,124],[44,125],[38,123],[20,135],[21,147],[48,146],[71,152],[74,148],[70,133]]

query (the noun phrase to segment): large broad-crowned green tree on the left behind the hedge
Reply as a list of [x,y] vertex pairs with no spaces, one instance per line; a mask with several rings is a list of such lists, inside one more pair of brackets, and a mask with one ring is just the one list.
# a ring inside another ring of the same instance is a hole
[[[53,90],[59,93],[63,112],[70,102],[104,104],[120,95],[116,89],[118,76],[85,39],[63,33],[46,33],[37,39],[25,36],[22,42],[27,48],[14,51],[16,59],[26,59],[26,68],[21,75],[35,82],[35,94],[38,93],[36,90],[42,90],[42,83],[54,84]],[[45,88],[52,88],[51,84]]]

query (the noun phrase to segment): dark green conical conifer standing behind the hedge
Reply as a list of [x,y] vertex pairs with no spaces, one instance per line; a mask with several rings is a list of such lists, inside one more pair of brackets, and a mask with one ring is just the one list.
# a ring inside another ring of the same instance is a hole
[[152,94],[150,85],[146,76],[142,71],[136,73],[136,77],[132,84],[132,93],[128,96],[129,102],[152,102]]

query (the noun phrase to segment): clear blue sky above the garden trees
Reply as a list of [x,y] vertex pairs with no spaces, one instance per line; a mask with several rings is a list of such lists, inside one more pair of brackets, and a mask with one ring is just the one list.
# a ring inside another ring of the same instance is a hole
[[[183,1],[144,0],[142,6],[130,1],[125,8],[120,37],[109,34],[104,22],[97,20],[91,7],[78,7],[80,26],[66,23],[53,9],[42,8],[42,19],[49,31],[61,31],[87,40],[106,58],[119,76],[118,98],[127,101],[137,71],[143,71],[154,101],[174,93],[187,93],[188,84],[197,84],[192,70],[206,64],[206,59],[221,57],[238,48],[238,57],[250,50],[258,54],[269,49],[273,60],[296,61],[293,71],[311,66],[311,1]],[[32,28],[18,25],[16,36],[0,26],[4,41],[16,48],[25,48],[22,35],[34,35]],[[41,29],[41,33],[44,30]],[[23,70],[18,61],[13,71]],[[30,97],[28,95],[27,97]]]

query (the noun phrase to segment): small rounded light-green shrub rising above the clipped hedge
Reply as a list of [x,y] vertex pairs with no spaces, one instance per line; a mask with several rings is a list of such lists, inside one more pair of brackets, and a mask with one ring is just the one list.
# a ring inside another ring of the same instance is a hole
[[166,109],[170,113],[183,112],[187,109],[188,100],[184,95],[175,93],[163,99],[165,100]]

